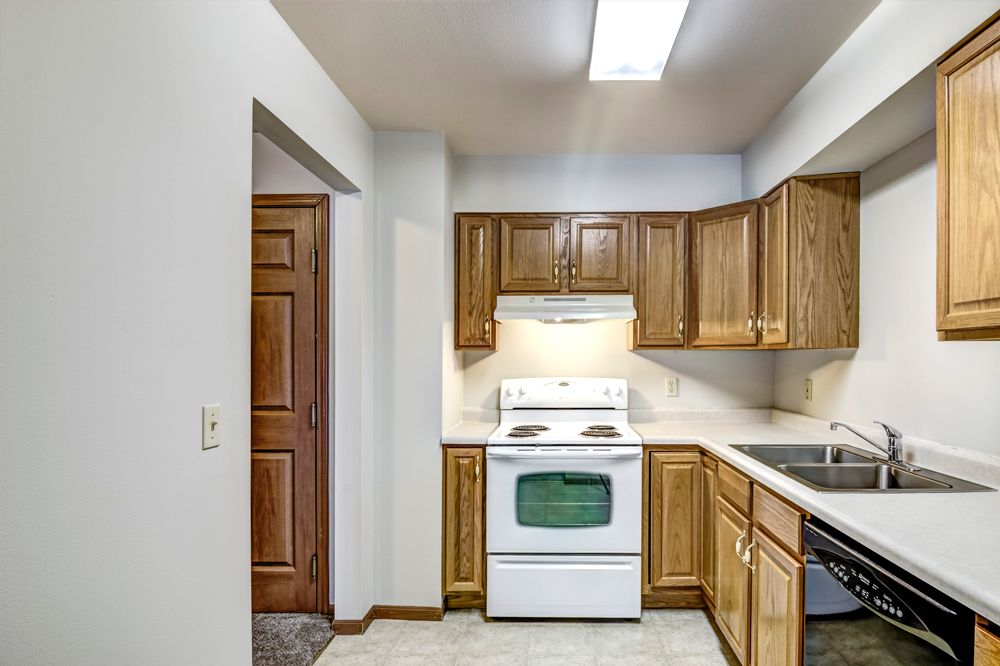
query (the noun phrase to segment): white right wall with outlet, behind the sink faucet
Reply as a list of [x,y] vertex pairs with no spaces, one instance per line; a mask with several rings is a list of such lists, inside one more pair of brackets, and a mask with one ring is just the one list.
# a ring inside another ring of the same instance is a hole
[[933,133],[862,174],[860,347],[776,353],[774,403],[1000,455],[1000,343],[935,332],[935,178]]

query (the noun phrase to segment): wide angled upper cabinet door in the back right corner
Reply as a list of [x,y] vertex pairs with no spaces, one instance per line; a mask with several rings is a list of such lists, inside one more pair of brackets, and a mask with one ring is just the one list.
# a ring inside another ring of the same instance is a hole
[[757,344],[757,204],[691,216],[691,345]]

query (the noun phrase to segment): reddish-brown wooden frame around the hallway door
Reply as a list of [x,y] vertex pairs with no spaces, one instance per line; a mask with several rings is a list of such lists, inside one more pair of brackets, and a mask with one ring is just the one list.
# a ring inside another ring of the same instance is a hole
[[316,228],[316,612],[330,603],[330,195],[254,194],[251,208],[312,208]]

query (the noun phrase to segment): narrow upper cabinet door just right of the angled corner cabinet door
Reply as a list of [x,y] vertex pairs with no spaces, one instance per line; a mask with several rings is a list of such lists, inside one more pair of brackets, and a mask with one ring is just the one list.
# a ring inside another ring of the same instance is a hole
[[761,202],[757,330],[765,345],[788,343],[788,187]]

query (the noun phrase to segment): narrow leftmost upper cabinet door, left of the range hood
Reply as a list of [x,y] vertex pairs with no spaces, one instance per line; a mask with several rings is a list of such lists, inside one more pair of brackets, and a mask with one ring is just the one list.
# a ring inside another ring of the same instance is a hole
[[493,255],[493,221],[460,216],[455,224],[456,349],[496,349]]

